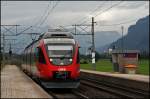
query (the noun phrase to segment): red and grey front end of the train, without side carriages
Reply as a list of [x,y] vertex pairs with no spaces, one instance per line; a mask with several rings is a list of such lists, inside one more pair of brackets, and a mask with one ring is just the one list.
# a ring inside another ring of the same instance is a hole
[[44,37],[47,68],[42,84],[48,88],[77,88],[80,84],[79,47],[70,34]]

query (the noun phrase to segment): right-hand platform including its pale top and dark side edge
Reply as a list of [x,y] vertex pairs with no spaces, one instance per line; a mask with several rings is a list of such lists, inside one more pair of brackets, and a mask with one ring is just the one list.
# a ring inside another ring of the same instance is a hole
[[99,82],[112,83],[118,86],[130,87],[149,91],[149,76],[138,74],[120,74],[111,72],[99,72],[92,70],[80,70],[81,79],[94,79]]

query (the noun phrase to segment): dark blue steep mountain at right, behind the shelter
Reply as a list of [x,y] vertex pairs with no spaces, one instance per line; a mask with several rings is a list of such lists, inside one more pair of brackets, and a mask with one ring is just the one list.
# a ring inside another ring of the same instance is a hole
[[128,28],[128,34],[110,44],[109,47],[115,46],[120,49],[122,40],[124,49],[136,49],[149,53],[149,16],[139,19],[135,25],[131,25]]

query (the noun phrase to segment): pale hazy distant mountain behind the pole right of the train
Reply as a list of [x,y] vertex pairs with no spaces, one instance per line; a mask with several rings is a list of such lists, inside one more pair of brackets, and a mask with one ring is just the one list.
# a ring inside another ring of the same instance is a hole
[[[81,46],[80,52],[82,54],[86,54],[88,48],[92,46],[91,35],[77,35],[74,37]],[[116,41],[120,37],[121,37],[121,35],[116,31],[97,31],[97,32],[95,32],[96,51],[99,51],[99,48],[101,48],[101,46],[110,44],[110,43]]]

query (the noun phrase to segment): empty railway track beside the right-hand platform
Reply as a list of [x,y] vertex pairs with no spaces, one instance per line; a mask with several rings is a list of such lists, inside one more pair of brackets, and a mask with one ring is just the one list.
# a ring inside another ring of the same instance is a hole
[[117,96],[118,98],[148,98],[149,92],[143,90],[131,89],[112,83],[100,82],[94,79],[86,78],[81,80],[81,86],[85,85],[99,91]]

